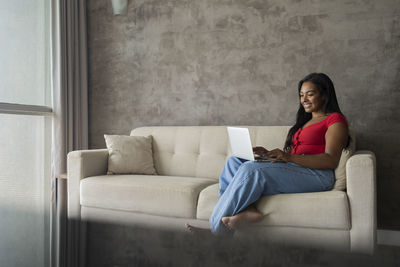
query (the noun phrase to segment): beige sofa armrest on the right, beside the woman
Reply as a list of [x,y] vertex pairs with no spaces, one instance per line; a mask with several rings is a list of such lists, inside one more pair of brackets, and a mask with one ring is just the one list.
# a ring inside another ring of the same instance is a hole
[[357,151],[346,163],[350,203],[352,252],[372,254],[376,246],[376,158],[371,151]]

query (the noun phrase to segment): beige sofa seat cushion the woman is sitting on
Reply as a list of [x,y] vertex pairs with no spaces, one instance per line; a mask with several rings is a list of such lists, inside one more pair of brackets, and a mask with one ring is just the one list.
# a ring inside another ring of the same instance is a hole
[[[208,220],[218,202],[218,184],[201,191],[197,218]],[[256,203],[264,214],[259,225],[350,229],[350,211],[343,191],[263,196]]]

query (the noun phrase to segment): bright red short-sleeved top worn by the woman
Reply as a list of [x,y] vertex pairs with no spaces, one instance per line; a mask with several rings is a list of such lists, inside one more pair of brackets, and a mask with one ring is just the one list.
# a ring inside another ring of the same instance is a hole
[[292,154],[325,153],[325,133],[328,127],[336,122],[348,125],[346,118],[340,113],[332,113],[320,122],[299,129],[292,139]]

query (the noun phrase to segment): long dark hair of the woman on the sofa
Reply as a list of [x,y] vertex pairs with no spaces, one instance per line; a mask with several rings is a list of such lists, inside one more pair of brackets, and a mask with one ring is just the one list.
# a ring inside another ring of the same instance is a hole
[[[325,114],[338,112],[343,115],[342,111],[339,108],[339,104],[337,102],[335,87],[333,86],[332,80],[328,77],[328,75],[324,73],[311,73],[304,77],[298,85],[298,95],[300,97],[301,86],[305,82],[311,82],[315,85],[318,92],[321,96],[325,97],[324,104],[322,106]],[[343,115],[344,116],[344,115]],[[303,125],[312,118],[311,113],[307,113],[304,110],[303,105],[300,103],[299,110],[297,111],[296,116],[296,124],[290,128],[289,133],[286,137],[284,151],[290,153],[292,150],[292,138],[294,134],[299,130]],[[346,148],[350,144],[350,136],[347,139]]]

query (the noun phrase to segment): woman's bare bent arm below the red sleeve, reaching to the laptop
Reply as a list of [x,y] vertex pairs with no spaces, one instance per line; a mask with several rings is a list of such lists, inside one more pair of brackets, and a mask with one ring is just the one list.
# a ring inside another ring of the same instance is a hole
[[340,161],[343,148],[346,147],[348,138],[347,125],[336,122],[328,127],[325,134],[325,153],[317,155],[297,155],[285,153],[280,149],[274,149],[267,153],[268,157],[312,169],[335,169]]

